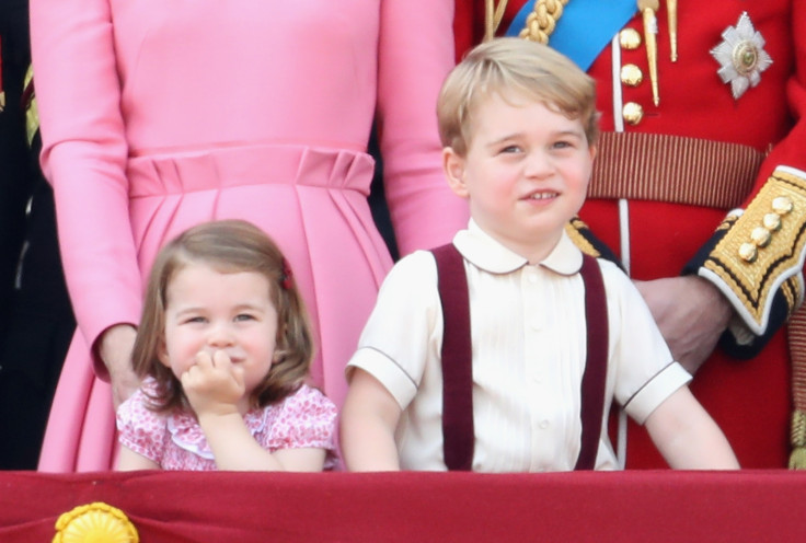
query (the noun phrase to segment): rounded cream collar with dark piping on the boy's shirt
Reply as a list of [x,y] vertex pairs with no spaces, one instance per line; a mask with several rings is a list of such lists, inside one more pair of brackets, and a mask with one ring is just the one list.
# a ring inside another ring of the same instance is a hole
[[[468,230],[461,230],[453,238],[459,252],[474,266],[491,274],[509,274],[528,264],[528,261],[502,245],[470,219]],[[583,266],[583,253],[574,245],[563,231],[560,241],[549,256],[540,262],[552,272],[561,275],[574,275]]]

